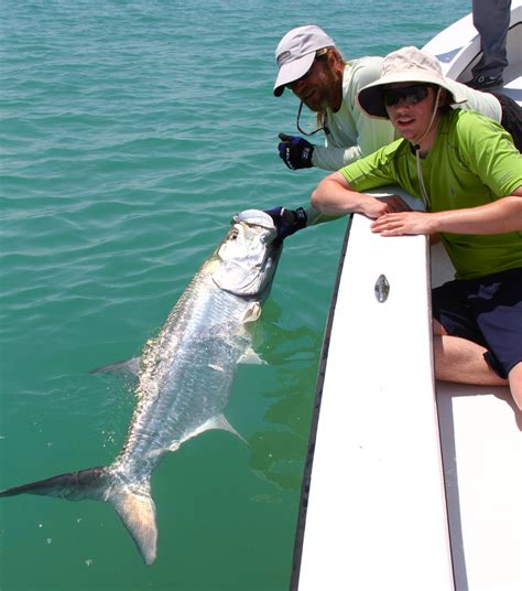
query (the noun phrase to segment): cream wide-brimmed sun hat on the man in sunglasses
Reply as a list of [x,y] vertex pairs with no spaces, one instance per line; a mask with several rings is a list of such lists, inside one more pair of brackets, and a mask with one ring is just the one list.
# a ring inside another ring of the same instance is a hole
[[443,75],[441,64],[434,55],[417,47],[402,47],[384,57],[381,77],[361,88],[357,101],[370,117],[388,119],[382,88],[390,84],[406,82],[435,84],[445,88],[450,95],[452,105],[467,100],[457,84]]

